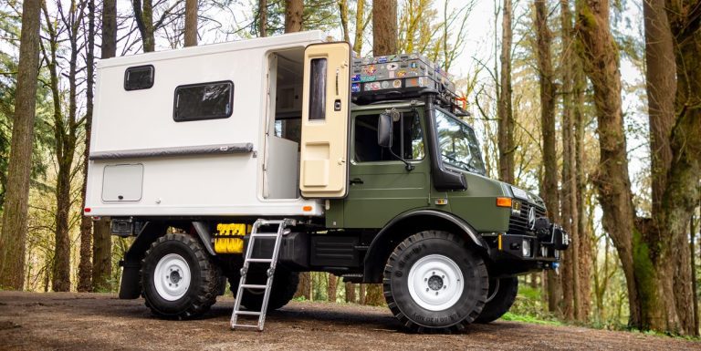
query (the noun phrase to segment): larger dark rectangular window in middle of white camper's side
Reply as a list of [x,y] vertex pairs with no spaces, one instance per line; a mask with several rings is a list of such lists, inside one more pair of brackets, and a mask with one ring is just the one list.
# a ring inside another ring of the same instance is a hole
[[230,81],[191,84],[175,88],[173,119],[225,119],[231,116],[234,83]]

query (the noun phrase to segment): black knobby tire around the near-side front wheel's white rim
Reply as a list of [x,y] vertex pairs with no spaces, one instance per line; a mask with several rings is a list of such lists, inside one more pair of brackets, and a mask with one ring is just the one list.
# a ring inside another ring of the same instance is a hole
[[[454,305],[441,311],[422,307],[414,301],[409,291],[409,274],[413,264],[429,255],[449,258],[464,278],[462,294]],[[394,249],[384,268],[382,287],[392,315],[409,331],[459,332],[465,330],[466,325],[474,322],[482,312],[487,300],[487,267],[482,257],[469,249],[460,236],[441,231],[419,232]]]

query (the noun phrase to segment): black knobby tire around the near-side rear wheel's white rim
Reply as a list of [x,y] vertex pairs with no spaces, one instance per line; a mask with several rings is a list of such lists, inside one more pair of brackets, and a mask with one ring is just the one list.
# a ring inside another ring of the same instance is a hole
[[[168,301],[158,293],[153,276],[159,261],[171,253],[184,259],[191,274],[187,291],[174,301]],[[152,243],[141,261],[141,295],[153,315],[194,318],[203,315],[216,302],[223,282],[221,276],[221,269],[197,239],[186,233],[168,233]]]

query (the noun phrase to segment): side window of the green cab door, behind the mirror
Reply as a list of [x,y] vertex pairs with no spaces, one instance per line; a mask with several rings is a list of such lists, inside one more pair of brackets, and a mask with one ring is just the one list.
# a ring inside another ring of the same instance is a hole
[[[424,159],[424,132],[416,112],[403,112],[400,119],[392,123],[392,151],[404,160]],[[378,114],[361,115],[355,118],[355,155],[357,162],[396,160],[390,150],[377,144]],[[398,160],[397,160],[398,161]]]

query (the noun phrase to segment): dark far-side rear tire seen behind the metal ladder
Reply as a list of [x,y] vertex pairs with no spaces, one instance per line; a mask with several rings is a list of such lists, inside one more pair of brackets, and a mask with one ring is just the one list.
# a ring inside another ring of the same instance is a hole
[[[239,270],[235,270],[229,275],[229,284],[231,292],[236,298],[238,283],[240,282],[241,274]],[[266,284],[267,275],[264,271],[250,270],[247,274],[246,284]],[[297,292],[299,284],[299,273],[290,272],[288,269],[277,266],[275,269],[275,277],[273,278],[273,288],[270,289],[270,297],[267,301],[267,310],[274,311],[278,308],[288,305]],[[263,290],[247,289],[244,292],[244,298],[241,300],[241,305],[250,311],[260,311],[263,305]]]

